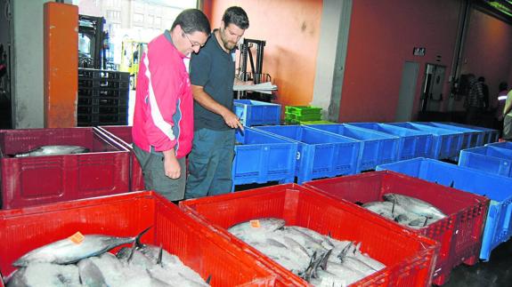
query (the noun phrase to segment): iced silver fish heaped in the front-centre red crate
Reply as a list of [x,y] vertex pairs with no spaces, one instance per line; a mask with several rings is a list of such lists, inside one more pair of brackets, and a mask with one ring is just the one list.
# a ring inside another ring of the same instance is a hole
[[257,220],[264,222],[260,224],[263,229],[243,222],[228,230],[313,285],[355,283],[386,267],[362,253],[361,243],[338,241],[305,227],[284,226],[284,220]]

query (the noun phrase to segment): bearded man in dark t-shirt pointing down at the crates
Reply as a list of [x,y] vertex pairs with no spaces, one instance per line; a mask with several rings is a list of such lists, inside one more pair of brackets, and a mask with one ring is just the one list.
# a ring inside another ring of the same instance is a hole
[[248,28],[247,13],[230,7],[207,44],[191,56],[194,96],[194,140],[189,155],[185,198],[229,193],[235,129],[243,130],[232,112],[235,47]]

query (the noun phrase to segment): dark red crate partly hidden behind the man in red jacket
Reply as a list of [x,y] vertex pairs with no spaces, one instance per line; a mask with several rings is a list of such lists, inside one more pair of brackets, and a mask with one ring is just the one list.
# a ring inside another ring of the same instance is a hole
[[130,150],[130,190],[144,190],[144,175],[142,174],[141,164],[134,154],[132,144],[132,127],[128,125],[104,125],[98,127],[100,130],[108,132],[111,138],[118,140]]

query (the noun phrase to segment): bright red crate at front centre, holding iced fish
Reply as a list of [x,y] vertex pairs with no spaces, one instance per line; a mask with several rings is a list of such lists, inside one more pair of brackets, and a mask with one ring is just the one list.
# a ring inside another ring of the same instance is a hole
[[180,203],[203,224],[231,238],[244,250],[280,274],[279,286],[308,286],[260,251],[231,235],[226,228],[249,219],[273,217],[287,225],[313,229],[339,240],[362,242],[362,252],[386,268],[354,286],[426,286],[431,283],[439,243],[397,227],[378,215],[321,195],[307,187],[285,184],[227,195],[191,199]]

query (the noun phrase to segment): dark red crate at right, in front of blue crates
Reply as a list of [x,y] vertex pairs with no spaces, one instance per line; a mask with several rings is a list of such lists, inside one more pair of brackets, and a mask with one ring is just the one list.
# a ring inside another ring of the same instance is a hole
[[448,280],[453,267],[462,262],[474,264],[478,259],[489,206],[489,199],[484,196],[411,178],[394,171],[373,171],[315,180],[305,183],[305,186],[350,203],[383,201],[382,195],[397,193],[414,196],[435,205],[448,216],[427,227],[414,229],[399,225],[391,219],[386,220],[441,243],[433,280],[437,285]]

